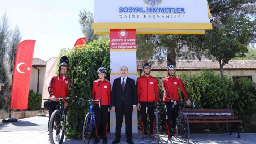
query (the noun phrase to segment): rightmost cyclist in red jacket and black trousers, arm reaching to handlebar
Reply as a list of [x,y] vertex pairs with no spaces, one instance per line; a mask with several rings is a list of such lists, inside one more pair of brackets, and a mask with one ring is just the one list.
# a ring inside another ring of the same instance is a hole
[[[175,76],[176,67],[173,64],[167,66],[168,75],[162,79],[163,87],[163,102],[165,102],[165,111],[166,111],[166,129],[168,134],[168,144],[173,144],[173,137],[176,119],[178,117],[179,107],[176,106],[176,101],[179,101],[178,87],[180,87],[183,95],[187,99],[187,105],[190,105],[190,100],[188,93],[184,87],[182,80],[179,77]],[[172,109],[171,100],[175,100],[174,109]]]

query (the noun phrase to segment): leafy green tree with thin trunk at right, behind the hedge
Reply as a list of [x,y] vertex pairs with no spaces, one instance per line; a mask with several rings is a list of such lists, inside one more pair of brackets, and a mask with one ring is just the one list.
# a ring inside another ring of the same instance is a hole
[[256,19],[251,21],[245,14],[238,14],[225,18],[229,23],[222,23],[221,17],[214,20],[213,30],[206,31],[202,49],[206,56],[214,57],[219,62],[221,77],[224,76],[223,66],[229,60],[245,57],[247,45],[255,36]]

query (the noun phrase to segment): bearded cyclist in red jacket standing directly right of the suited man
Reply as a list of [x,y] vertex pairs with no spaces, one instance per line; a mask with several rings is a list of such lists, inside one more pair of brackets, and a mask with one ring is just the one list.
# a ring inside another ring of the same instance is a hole
[[[146,137],[147,131],[147,105],[154,105],[158,103],[159,100],[159,88],[158,88],[158,80],[155,77],[150,75],[151,65],[148,62],[142,64],[142,69],[144,75],[137,79],[137,94],[138,94],[138,104],[137,109],[140,111],[141,115],[141,126],[142,126],[142,135],[143,138],[140,143],[144,144],[148,141]],[[149,114],[149,123],[150,123],[150,142],[156,143],[154,139],[154,106],[148,106],[148,114]]]

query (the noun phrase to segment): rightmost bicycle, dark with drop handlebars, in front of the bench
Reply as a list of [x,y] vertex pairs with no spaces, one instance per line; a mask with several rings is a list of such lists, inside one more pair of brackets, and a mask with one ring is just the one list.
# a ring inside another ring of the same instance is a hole
[[[172,109],[174,108],[175,100],[171,100],[172,102]],[[177,102],[177,101],[176,101]],[[178,139],[178,132],[180,131],[180,137],[183,144],[189,143],[190,138],[190,129],[189,129],[189,122],[188,117],[185,113],[182,111],[182,106],[186,104],[186,101],[178,101],[177,105],[179,106],[179,116],[177,117],[177,125],[176,125],[176,135],[174,138]],[[194,107],[194,102],[192,101],[192,107]]]

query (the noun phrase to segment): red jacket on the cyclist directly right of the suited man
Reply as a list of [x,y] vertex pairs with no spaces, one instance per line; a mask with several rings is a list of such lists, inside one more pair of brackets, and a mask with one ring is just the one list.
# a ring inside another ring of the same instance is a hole
[[157,78],[146,77],[145,74],[137,79],[138,103],[142,102],[158,102],[159,88]]

